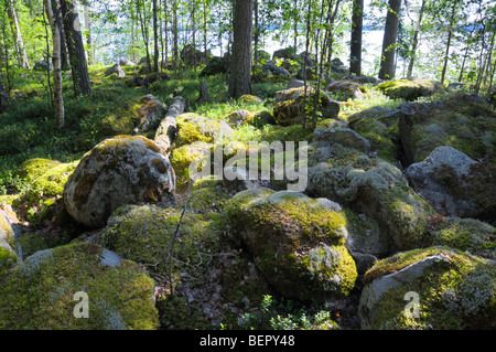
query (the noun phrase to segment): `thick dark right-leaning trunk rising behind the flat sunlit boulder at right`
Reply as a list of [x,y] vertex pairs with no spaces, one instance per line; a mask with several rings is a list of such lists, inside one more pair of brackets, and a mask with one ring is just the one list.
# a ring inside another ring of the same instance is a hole
[[392,79],[395,77],[396,41],[398,38],[400,9],[401,0],[389,0],[380,57],[380,79]]

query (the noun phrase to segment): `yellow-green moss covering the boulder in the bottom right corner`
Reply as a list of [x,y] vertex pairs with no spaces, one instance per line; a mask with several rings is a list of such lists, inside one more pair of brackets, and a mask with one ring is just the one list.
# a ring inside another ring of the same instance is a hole
[[[369,281],[379,271],[387,275],[442,254],[445,260],[430,266],[421,277],[405,282],[381,296],[371,329],[494,329],[496,312],[494,266],[449,247],[431,247],[399,254],[379,262],[365,278]],[[419,318],[405,314],[403,296],[419,295]]]

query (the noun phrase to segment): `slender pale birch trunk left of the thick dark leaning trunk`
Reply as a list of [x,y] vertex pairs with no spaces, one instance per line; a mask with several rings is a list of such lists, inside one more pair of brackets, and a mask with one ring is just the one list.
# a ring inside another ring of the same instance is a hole
[[61,129],[65,124],[65,113],[64,113],[64,97],[62,95],[62,39],[61,29],[54,17],[52,10],[52,1],[43,0],[45,6],[46,15],[48,18],[50,26],[52,28],[52,40],[53,40],[53,82],[54,82],[54,103],[55,103],[55,119],[57,127]]

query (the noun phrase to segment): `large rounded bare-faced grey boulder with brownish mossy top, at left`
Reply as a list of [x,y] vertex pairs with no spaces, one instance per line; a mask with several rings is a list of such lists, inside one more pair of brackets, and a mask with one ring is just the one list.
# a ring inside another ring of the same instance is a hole
[[151,140],[117,136],[96,146],[64,188],[67,212],[89,227],[103,227],[119,206],[175,202],[175,173]]

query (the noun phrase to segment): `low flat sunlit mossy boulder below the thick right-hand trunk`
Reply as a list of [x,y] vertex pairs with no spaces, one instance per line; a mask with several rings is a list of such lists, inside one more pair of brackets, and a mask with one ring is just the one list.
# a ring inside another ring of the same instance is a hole
[[436,81],[411,77],[397,81],[388,81],[377,86],[391,99],[405,99],[413,102],[420,97],[429,97],[444,89],[444,86]]

